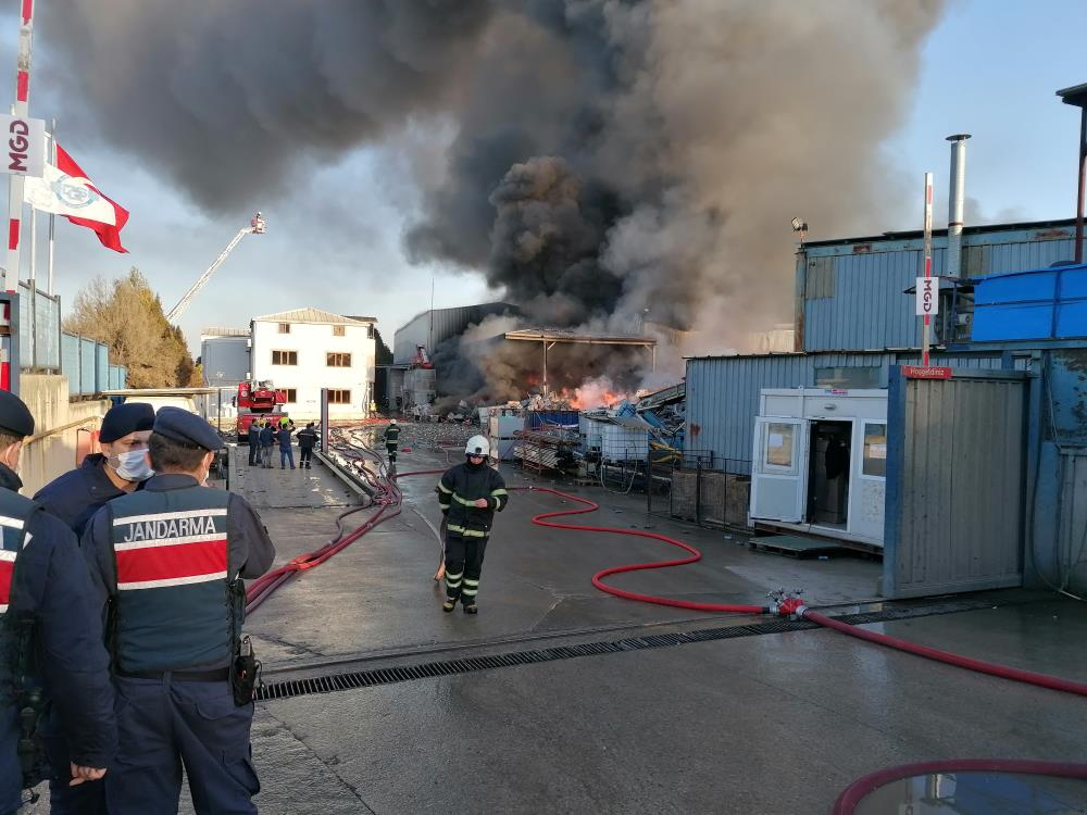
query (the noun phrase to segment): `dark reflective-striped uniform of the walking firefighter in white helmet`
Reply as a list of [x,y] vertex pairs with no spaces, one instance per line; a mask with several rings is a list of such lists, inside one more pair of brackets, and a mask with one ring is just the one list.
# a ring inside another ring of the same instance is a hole
[[[487,509],[475,502],[487,499]],[[497,469],[464,462],[450,467],[438,481],[438,504],[446,515],[446,609],[457,600],[464,611],[475,611],[483,572],[483,555],[495,513],[510,500],[505,481]]]

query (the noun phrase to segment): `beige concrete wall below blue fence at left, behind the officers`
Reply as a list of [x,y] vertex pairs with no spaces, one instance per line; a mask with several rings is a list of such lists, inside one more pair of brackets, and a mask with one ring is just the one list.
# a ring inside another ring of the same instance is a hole
[[[20,377],[20,397],[35,419],[35,435],[23,446],[20,459],[23,494],[33,496],[75,466],[80,436],[86,439],[88,431],[99,428],[110,402],[107,399],[70,402],[66,377],[32,374]],[[76,425],[80,421],[83,424]],[[97,451],[96,447],[92,452]]]

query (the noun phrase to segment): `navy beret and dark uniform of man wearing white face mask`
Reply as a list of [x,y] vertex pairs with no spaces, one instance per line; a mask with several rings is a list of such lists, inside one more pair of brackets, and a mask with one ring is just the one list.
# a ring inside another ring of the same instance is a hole
[[[102,419],[99,441],[112,442],[133,432],[150,430],[154,425],[154,408],[146,402],[125,402],[111,408]],[[125,490],[110,480],[105,473],[107,459],[101,453],[92,453],[75,469],[47,484],[34,500],[50,515],[54,515],[75,532],[83,536],[87,524],[100,509],[115,498],[127,496]],[[143,489],[143,482],[136,485]],[[48,747],[49,760],[53,765],[53,778],[49,782],[49,808],[52,815],[104,815],[105,781],[85,781],[70,787],[67,749],[60,736],[60,723],[55,712],[42,723],[42,732]]]

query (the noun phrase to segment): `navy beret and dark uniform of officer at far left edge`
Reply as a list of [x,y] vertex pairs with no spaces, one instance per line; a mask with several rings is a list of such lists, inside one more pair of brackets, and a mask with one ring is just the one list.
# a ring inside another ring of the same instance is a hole
[[[0,392],[0,431],[34,432],[29,411],[8,391]],[[67,762],[104,768],[116,748],[109,654],[86,564],[72,530],[20,487],[0,464],[0,813],[17,810],[24,780],[36,782],[46,768],[43,753],[24,750],[24,778],[20,751],[27,736],[25,747],[43,747],[37,728],[46,707]],[[66,783],[67,763],[62,772]]]

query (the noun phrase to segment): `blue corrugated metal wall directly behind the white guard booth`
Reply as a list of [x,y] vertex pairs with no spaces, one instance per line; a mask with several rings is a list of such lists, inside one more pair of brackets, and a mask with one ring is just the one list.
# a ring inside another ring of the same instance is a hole
[[[955,368],[998,369],[999,355],[934,356],[936,364]],[[754,417],[763,388],[813,388],[815,369],[877,367],[887,386],[891,365],[920,364],[912,354],[787,354],[777,356],[710,356],[687,360],[687,448],[713,453],[713,468],[750,475]]]

